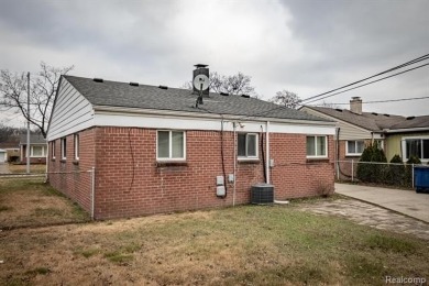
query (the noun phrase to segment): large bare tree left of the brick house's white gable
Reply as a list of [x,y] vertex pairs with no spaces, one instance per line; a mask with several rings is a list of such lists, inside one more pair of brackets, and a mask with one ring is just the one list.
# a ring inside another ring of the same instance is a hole
[[53,67],[42,62],[41,72],[31,77],[30,111],[26,108],[28,79],[25,73],[12,74],[8,69],[2,69],[0,74],[0,108],[21,112],[25,120],[30,120],[30,123],[35,125],[46,138],[59,77],[73,68],[74,66]]

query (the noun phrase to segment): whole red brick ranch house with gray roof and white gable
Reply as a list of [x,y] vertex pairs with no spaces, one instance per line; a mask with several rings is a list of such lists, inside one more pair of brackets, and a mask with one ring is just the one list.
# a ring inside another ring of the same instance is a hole
[[[50,184],[95,219],[249,204],[257,183],[273,184],[278,200],[333,188],[334,122],[208,89],[196,107],[199,95],[62,76],[47,132]],[[85,173],[92,167],[94,198]]]

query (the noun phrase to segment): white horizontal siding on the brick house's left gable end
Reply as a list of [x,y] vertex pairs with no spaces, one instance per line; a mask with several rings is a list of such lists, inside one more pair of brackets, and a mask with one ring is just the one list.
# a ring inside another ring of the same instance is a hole
[[91,103],[63,78],[51,116],[47,140],[52,141],[90,128],[92,120]]

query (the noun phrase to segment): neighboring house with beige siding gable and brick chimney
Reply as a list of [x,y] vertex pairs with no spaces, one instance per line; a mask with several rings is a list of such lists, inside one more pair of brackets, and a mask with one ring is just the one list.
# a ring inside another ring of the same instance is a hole
[[[360,97],[350,100],[350,110],[309,106],[304,106],[300,110],[337,122],[336,158],[340,162],[358,161],[365,146],[374,142],[385,151],[389,150],[385,129],[405,120],[404,117],[388,113],[362,112]],[[341,175],[351,176],[351,164],[339,164],[339,167]]]

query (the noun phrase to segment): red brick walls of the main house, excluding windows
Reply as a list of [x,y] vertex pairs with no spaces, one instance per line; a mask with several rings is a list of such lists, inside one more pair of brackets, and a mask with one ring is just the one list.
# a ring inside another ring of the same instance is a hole
[[[232,205],[233,183],[228,183],[228,174],[233,174],[232,132],[223,134],[228,188],[226,198],[216,196],[216,177],[223,175],[220,132],[187,131],[185,165],[156,164],[156,130],[94,128],[80,132],[80,141],[79,165],[73,165],[68,158],[66,163],[58,162],[61,144],[57,140],[57,160],[51,164],[50,169],[89,169],[95,163],[97,219]],[[275,160],[275,167],[271,169],[271,179],[275,186],[276,199],[315,196],[321,183],[333,186],[332,136],[328,140],[329,158],[311,162],[307,162],[306,158],[304,134],[272,133],[270,142],[271,157]],[[263,145],[266,152],[265,142]],[[73,135],[67,138],[67,147],[72,147],[67,153],[73,152]],[[260,158],[262,158],[261,146]],[[55,178],[51,179],[54,187],[62,189],[85,209],[90,209],[88,175],[85,176],[84,182],[69,179],[62,183],[58,179],[61,176],[50,177]],[[262,182],[264,182],[262,160],[238,162],[235,204],[250,202],[251,186]]]

